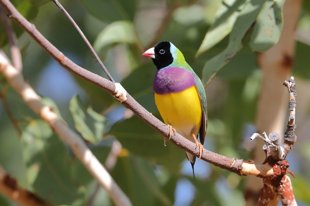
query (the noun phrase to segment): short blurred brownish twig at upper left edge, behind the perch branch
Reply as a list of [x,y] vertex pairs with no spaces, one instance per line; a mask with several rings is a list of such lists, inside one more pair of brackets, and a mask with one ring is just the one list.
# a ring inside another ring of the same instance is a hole
[[0,18],[3,23],[4,31],[7,34],[7,40],[10,46],[12,64],[16,69],[22,70],[23,62],[21,58],[20,49],[17,45],[17,37],[15,32],[13,31],[12,24],[6,15],[6,11],[3,9],[2,6],[0,6]]

